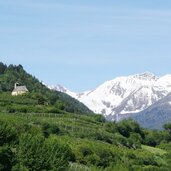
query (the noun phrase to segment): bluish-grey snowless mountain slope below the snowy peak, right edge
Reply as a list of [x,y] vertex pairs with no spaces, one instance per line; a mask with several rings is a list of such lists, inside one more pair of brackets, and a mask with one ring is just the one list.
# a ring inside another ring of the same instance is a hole
[[122,116],[120,119],[132,118],[145,128],[162,129],[165,123],[171,122],[171,93],[140,113]]

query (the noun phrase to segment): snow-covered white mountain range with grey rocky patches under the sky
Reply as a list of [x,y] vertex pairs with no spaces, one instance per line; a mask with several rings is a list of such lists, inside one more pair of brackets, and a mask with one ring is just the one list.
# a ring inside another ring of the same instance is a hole
[[138,113],[171,92],[171,75],[156,77],[146,72],[117,77],[106,81],[95,90],[73,93],[62,86],[51,87],[65,92],[84,103],[95,113],[104,116]]

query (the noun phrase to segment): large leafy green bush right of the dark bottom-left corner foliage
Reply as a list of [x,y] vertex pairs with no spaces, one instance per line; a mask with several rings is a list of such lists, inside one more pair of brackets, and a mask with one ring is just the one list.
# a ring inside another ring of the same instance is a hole
[[41,135],[21,135],[17,148],[17,166],[19,170],[54,170],[63,171],[68,168],[67,146],[55,139],[45,139]]

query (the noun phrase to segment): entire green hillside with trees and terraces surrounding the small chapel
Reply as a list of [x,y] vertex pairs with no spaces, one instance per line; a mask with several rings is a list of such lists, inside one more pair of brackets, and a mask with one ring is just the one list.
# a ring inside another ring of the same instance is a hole
[[[29,93],[12,96],[15,82]],[[0,64],[0,87],[0,171],[171,170],[171,124],[107,122],[21,65]]]

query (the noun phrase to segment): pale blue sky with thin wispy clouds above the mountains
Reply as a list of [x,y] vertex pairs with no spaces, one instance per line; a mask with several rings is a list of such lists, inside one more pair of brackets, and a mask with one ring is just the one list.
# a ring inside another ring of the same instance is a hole
[[0,61],[77,92],[171,73],[171,1],[0,0]]

